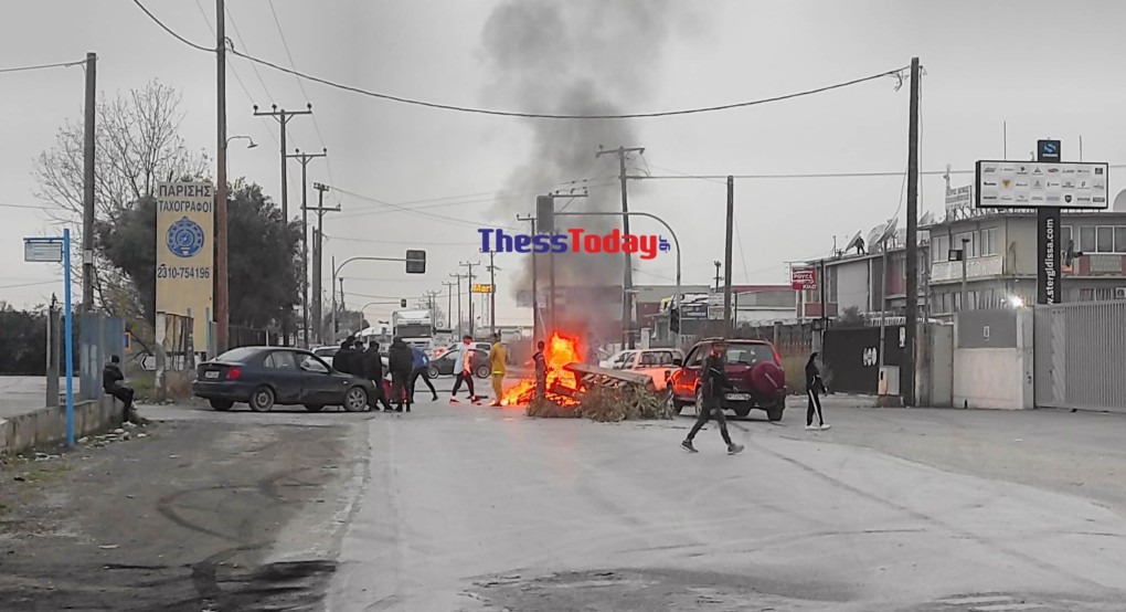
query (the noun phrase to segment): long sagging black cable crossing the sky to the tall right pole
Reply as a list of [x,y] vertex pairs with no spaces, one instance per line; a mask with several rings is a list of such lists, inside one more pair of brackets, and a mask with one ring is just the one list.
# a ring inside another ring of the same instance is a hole
[[[199,51],[214,52],[214,50],[211,50],[211,48],[197,45],[197,44],[188,41],[187,38],[184,38],[179,34],[177,34],[176,32],[173,32],[171,28],[169,28],[168,26],[166,26],[160,19],[158,19],[157,16],[154,16],[152,12],[150,12],[149,9],[146,9],[144,7],[144,5],[141,3],[141,0],[133,0],[133,3],[135,3],[137,7],[140,7],[141,10],[143,10],[145,12],[145,15],[148,15],[150,19],[152,19],[153,21],[155,21],[157,25],[159,25],[164,32],[168,32],[169,34],[171,34],[172,36],[175,36],[180,42],[182,42],[182,43],[191,46],[193,48],[199,50]],[[718,112],[718,110],[731,110],[731,109],[734,109],[734,108],[745,108],[745,107],[749,107],[749,106],[759,106],[759,105],[763,105],[763,104],[770,104],[770,103],[776,103],[776,101],[789,100],[789,99],[794,99],[794,98],[801,98],[801,97],[805,97],[805,96],[813,96],[815,94],[823,94],[825,91],[832,91],[834,89],[842,89],[842,88],[846,88],[846,87],[851,87],[854,85],[859,85],[859,83],[863,83],[863,82],[873,81],[873,80],[876,80],[876,79],[882,79],[884,77],[893,77],[893,76],[900,74],[904,70],[908,70],[908,66],[897,68],[895,70],[887,70],[887,71],[879,72],[879,73],[876,73],[876,74],[870,74],[868,77],[861,77],[859,79],[852,79],[850,81],[838,82],[838,83],[833,83],[833,85],[829,85],[829,86],[817,87],[817,88],[814,88],[814,89],[806,89],[806,90],[803,90],[803,91],[796,91],[794,94],[786,94],[786,95],[781,95],[781,96],[775,96],[775,97],[771,97],[771,98],[761,98],[761,99],[757,99],[757,100],[747,100],[747,101],[732,103],[732,104],[721,104],[721,105],[705,106],[705,107],[698,107],[698,108],[682,108],[682,109],[678,109],[678,110],[660,110],[660,112],[653,112],[653,113],[624,113],[624,114],[605,114],[605,115],[579,115],[579,114],[549,114],[549,113],[519,113],[519,112],[513,112],[513,110],[497,110],[497,109],[492,109],[492,108],[474,108],[474,107],[470,107],[470,106],[458,106],[458,105],[453,105],[453,104],[440,104],[440,103],[432,103],[432,101],[419,100],[419,99],[413,99],[413,98],[404,98],[404,97],[401,97],[401,96],[393,96],[393,95],[390,95],[390,94],[381,94],[378,91],[370,91],[370,90],[363,89],[363,88],[359,88],[359,87],[343,85],[343,83],[338,83],[338,82],[331,81],[329,79],[322,79],[320,77],[314,77],[312,74],[306,74],[306,73],[301,72],[301,71],[295,70],[295,69],[285,68],[285,66],[278,65],[278,64],[276,64],[274,62],[269,62],[269,61],[262,60],[260,57],[254,57],[253,55],[250,55],[248,53],[242,53],[242,52],[240,52],[238,50],[231,50],[231,53],[234,54],[234,55],[238,55],[239,57],[248,60],[250,62],[258,63],[258,64],[265,65],[267,68],[272,68],[274,70],[277,70],[279,72],[285,72],[287,74],[293,74],[293,76],[298,77],[301,79],[306,79],[306,80],[310,80],[310,81],[313,81],[313,82],[316,82],[316,83],[321,83],[323,86],[332,87],[332,88],[340,89],[340,90],[343,90],[343,91],[350,91],[352,94],[359,94],[361,96],[368,96],[368,97],[372,97],[372,98],[378,98],[378,99],[383,99],[383,100],[395,101],[395,103],[400,103],[400,104],[408,104],[408,105],[413,105],[413,106],[422,106],[422,107],[427,107],[427,108],[437,108],[437,109],[440,109],[440,110],[454,110],[454,112],[458,112],[458,113],[470,113],[470,114],[475,114],[475,115],[492,115],[492,116],[500,116],[500,117],[518,117],[518,118],[531,118],[531,119],[640,119],[640,118],[653,118],[653,117],[672,117],[672,116],[679,116],[679,115],[698,115],[698,114],[703,114],[703,113],[715,113],[715,112]],[[291,57],[291,62],[293,60]]]

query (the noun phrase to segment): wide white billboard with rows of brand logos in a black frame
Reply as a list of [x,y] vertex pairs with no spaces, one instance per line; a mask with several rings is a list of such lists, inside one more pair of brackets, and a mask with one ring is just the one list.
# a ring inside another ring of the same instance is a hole
[[1108,209],[1109,175],[1110,166],[1105,162],[978,161],[974,205],[977,209]]

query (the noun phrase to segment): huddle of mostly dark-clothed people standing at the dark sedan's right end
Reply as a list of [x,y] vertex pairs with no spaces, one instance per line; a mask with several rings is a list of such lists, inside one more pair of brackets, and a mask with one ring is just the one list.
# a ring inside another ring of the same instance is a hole
[[[363,340],[349,336],[340,343],[340,349],[332,356],[332,369],[346,374],[367,379],[375,383],[372,408],[381,406],[386,413],[411,411],[414,403],[414,387],[419,379],[430,388],[434,400],[438,391],[430,382],[430,358],[420,348],[408,346],[402,338],[395,338],[387,351],[387,369],[391,374],[391,397],[383,388],[383,356],[379,343],[372,340],[365,346]],[[392,407],[392,403],[395,406]]]

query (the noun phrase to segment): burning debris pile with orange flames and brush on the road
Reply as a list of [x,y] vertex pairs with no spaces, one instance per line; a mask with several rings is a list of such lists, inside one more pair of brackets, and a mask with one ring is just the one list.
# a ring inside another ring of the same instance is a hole
[[502,406],[527,406],[528,416],[540,418],[590,418],[611,423],[672,418],[664,393],[650,381],[642,384],[626,373],[583,366],[580,343],[560,332],[545,343],[547,366],[545,393],[536,397],[536,380],[521,380],[504,392]]

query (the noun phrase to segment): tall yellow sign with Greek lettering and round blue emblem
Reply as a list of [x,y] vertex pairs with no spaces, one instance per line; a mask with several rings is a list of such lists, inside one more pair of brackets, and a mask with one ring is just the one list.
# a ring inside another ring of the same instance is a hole
[[214,318],[214,207],[211,181],[157,186],[157,312],[190,316],[196,352]]

